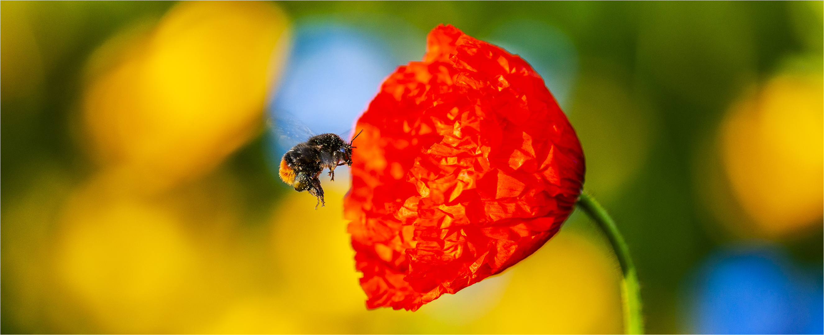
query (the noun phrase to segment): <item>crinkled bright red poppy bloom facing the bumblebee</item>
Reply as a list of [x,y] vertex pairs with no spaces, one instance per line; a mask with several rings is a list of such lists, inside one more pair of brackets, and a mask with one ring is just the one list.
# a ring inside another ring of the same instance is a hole
[[344,212],[368,308],[418,309],[541,248],[572,212],[583,151],[543,79],[453,26],[358,119]]

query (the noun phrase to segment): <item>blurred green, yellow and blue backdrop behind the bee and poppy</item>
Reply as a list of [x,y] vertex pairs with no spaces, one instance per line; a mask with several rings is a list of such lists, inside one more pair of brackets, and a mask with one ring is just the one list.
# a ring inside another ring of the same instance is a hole
[[277,179],[267,120],[346,130],[440,23],[545,77],[648,333],[822,333],[820,1],[2,1],[2,333],[620,333],[579,212],[498,277],[370,311],[345,178],[317,211]]

